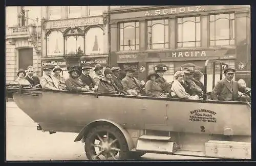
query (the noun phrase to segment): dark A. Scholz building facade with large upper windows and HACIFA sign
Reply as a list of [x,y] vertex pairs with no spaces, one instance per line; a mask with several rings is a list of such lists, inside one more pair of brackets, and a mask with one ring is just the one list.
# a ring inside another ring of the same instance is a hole
[[146,80],[155,65],[164,64],[172,81],[184,65],[202,69],[205,60],[219,59],[250,87],[250,6],[135,6],[109,14],[112,66],[133,67]]

